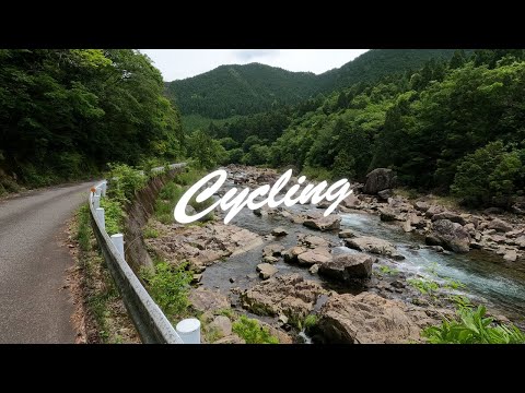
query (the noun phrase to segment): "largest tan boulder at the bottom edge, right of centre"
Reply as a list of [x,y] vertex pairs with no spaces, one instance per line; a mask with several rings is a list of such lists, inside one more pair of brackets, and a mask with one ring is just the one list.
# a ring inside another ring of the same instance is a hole
[[406,344],[421,342],[421,329],[436,321],[421,309],[373,293],[336,295],[320,309],[318,329],[329,343]]

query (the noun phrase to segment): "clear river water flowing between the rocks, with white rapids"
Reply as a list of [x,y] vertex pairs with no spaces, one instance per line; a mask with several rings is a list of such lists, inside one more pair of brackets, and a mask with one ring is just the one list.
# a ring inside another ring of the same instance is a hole
[[[231,183],[225,184],[232,187]],[[306,212],[315,209],[312,205],[295,205],[287,207],[292,213]],[[406,259],[399,262],[382,260],[390,266],[405,273],[407,276],[428,276],[443,282],[448,277],[463,283],[465,288],[457,290],[467,295],[475,302],[486,303],[498,312],[503,313],[520,326],[525,325],[525,273],[515,269],[509,269],[501,257],[487,252],[472,250],[468,254],[445,254],[432,249],[421,247],[424,239],[420,236],[406,234],[400,227],[386,224],[372,214],[351,213],[340,214],[341,229],[352,229],[358,236],[374,236],[394,243],[399,253]],[[252,230],[261,236],[267,236],[264,246],[257,247],[246,253],[231,257],[224,262],[209,266],[203,276],[202,284],[206,287],[219,288],[229,293],[232,287],[246,288],[259,279],[256,277],[256,265],[261,263],[262,247],[279,242],[284,249],[296,245],[298,234],[312,234],[325,237],[340,245],[334,252],[357,252],[342,246],[343,242],[337,237],[337,233],[319,233],[302,225],[293,224],[280,216],[256,216],[252,211],[243,209],[231,224]],[[288,236],[273,239],[270,231],[276,227],[283,227],[289,231]],[[300,273],[307,279],[322,282],[318,275],[310,274],[307,269],[287,264],[280,259],[276,264],[278,274]],[[432,273],[430,274],[429,271]],[[441,278],[439,278],[441,277]],[[234,283],[230,283],[230,278]]]

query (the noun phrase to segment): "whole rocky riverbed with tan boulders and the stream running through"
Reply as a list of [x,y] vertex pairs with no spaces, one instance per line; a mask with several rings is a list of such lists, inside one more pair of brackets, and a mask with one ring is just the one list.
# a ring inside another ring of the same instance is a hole
[[[279,177],[270,169],[226,169],[218,196]],[[392,182],[388,170],[372,172],[328,217],[326,203],[244,209],[229,225],[217,212],[206,224],[152,223],[161,236],[147,242],[166,261],[190,262],[190,299],[205,330],[220,332],[210,340],[218,343],[242,342],[231,332],[232,315],[241,313],[259,319],[281,343],[310,341],[301,331],[311,314],[314,342],[421,342],[421,329],[452,315],[459,296],[520,325],[525,225],[410,202],[393,195]]]

